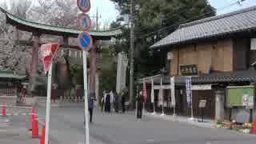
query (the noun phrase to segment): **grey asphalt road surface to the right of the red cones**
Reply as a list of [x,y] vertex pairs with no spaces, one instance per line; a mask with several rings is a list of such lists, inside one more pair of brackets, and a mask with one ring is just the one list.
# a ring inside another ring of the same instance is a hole
[[[42,108],[39,115],[44,115]],[[51,108],[50,141],[53,144],[84,143],[83,110]],[[90,124],[92,144],[254,144],[256,135],[223,129],[202,128],[157,118],[138,121],[133,113],[95,112]]]

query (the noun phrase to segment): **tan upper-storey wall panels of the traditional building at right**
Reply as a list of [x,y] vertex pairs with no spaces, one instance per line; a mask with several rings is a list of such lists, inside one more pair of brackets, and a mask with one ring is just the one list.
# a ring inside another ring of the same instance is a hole
[[178,75],[178,66],[197,65],[202,74],[233,70],[233,41],[202,42],[196,45],[179,46],[171,50],[174,58],[170,64],[170,75]]

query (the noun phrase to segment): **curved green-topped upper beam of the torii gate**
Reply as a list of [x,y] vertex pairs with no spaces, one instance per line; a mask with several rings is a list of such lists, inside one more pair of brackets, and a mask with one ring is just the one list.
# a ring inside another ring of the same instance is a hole
[[[18,18],[13,14],[8,13],[6,10],[3,10],[1,7],[0,10],[6,14],[6,22],[10,23],[11,25],[24,26],[28,31],[38,30],[43,34],[66,34],[74,37],[77,37],[78,34],[82,33],[82,30],[31,22],[23,18]],[[122,30],[120,28],[112,30],[90,30],[89,33],[94,37],[113,37],[115,35],[122,34]]]

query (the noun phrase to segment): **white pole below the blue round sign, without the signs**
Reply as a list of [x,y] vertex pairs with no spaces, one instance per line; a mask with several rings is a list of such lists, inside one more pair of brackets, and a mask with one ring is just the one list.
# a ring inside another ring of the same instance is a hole
[[82,51],[82,59],[83,59],[83,88],[84,88],[84,94],[85,94],[85,118],[86,118],[86,124],[85,124],[85,134],[86,134],[86,144],[90,144],[89,139],[89,119],[88,119],[88,87],[87,87],[87,51]]

